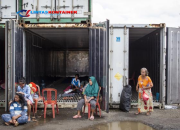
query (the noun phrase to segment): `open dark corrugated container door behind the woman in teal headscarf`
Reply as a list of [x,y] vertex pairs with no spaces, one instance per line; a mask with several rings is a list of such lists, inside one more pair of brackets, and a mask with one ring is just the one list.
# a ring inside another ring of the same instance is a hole
[[109,111],[109,21],[89,29],[89,75],[95,76],[102,94],[102,110]]

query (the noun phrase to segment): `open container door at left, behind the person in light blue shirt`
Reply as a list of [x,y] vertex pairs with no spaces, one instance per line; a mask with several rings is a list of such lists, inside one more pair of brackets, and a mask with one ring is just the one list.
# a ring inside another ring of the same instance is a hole
[[15,83],[23,75],[23,30],[14,20],[5,28],[5,110],[15,94]]

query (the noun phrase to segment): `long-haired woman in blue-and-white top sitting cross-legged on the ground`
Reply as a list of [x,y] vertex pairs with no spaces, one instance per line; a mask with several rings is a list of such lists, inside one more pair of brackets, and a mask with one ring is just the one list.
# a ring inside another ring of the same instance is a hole
[[22,94],[16,93],[14,101],[10,104],[10,114],[3,114],[2,119],[6,125],[14,126],[28,122],[27,102]]

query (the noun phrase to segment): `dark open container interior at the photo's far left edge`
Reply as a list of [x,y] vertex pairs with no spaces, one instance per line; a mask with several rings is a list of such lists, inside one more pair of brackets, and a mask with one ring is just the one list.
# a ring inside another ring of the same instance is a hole
[[5,29],[0,28],[0,101],[5,99]]

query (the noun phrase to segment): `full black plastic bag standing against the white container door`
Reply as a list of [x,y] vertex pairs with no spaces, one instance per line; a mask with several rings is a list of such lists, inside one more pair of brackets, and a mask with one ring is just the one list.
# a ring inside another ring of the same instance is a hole
[[130,85],[124,86],[121,93],[120,106],[119,106],[120,110],[124,112],[129,112],[131,108],[131,96],[132,96],[131,86]]

